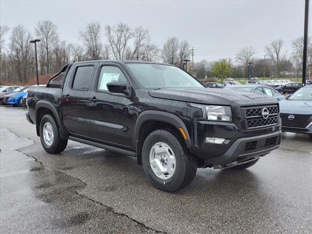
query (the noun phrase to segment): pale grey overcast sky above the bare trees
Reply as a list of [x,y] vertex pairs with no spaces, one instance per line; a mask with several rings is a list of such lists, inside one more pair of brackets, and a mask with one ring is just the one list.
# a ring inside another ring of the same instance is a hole
[[[10,28],[22,23],[32,32],[38,20],[58,25],[60,39],[78,42],[78,31],[87,22],[128,23],[150,30],[162,47],[168,37],[186,39],[195,49],[195,61],[233,58],[245,46],[263,56],[274,39],[291,42],[303,36],[303,0],[229,1],[6,1],[0,2],[0,23]],[[310,4],[309,36],[312,36]],[[9,32],[10,33],[10,32]],[[103,34],[103,42],[106,41]]]

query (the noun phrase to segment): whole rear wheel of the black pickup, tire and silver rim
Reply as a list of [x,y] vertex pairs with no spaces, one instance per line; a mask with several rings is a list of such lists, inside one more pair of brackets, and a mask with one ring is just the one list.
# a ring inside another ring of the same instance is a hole
[[59,126],[50,115],[45,115],[41,119],[40,141],[43,149],[49,154],[59,154],[67,146],[67,139],[60,138]]

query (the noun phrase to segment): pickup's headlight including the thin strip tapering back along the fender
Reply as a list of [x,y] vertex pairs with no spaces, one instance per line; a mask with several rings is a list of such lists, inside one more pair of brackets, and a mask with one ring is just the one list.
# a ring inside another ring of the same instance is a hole
[[203,117],[206,117],[211,121],[225,121],[232,122],[232,111],[230,106],[215,106],[215,105],[199,105],[194,103],[188,103],[190,106],[199,108],[202,110]]

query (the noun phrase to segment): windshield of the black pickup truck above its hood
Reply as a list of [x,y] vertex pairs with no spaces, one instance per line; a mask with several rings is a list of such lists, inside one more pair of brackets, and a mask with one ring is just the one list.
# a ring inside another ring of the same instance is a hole
[[196,88],[204,86],[175,66],[152,63],[128,63],[137,81],[145,88]]

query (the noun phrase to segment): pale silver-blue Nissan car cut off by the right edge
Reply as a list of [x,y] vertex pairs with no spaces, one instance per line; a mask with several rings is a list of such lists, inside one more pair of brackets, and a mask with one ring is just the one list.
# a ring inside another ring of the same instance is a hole
[[312,85],[280,101],[279,108],[283,131],[307,133],[312,137]]

